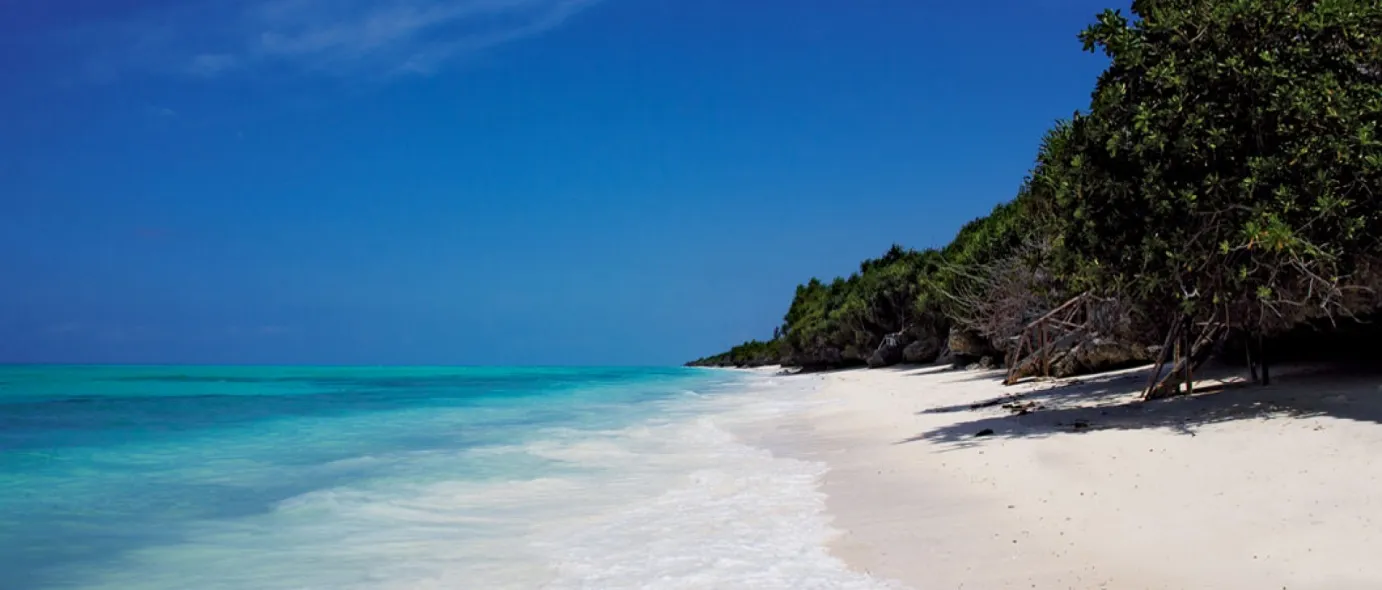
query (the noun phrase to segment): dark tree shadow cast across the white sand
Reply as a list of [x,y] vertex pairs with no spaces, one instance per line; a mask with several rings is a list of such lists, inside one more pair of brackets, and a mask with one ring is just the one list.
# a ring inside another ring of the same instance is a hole
[[985,416],[920,432],[898,444],[936,442],[948,449],[1005,438],[1045,438],[1099,430],[1197,428],[1253,419],[1334,416],[1382,423],[1382,369],[1376,366],[1294,366],[1273,373],[1273,384],[1248,383],[1240,369],[1197,376],[1195,395],[1143,402],[1150,370],[1135,369],[1070,381],[976,403],[919,413],[980,412]]

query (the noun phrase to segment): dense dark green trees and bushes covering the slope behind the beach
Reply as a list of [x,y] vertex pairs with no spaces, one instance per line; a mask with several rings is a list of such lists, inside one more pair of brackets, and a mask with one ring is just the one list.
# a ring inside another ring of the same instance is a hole
[[[768,343],[706,363],[1002,358],[1081,293],[1106,336],[1332,329],[1382,287],[1382,3],[1137,0],[1081,33],[1108,69],[1014,200],[940,250],[797,287]],[[1169,339],[1166,340],[1171,341]],[[1198,350],[1198,348],[1195,348]]]

